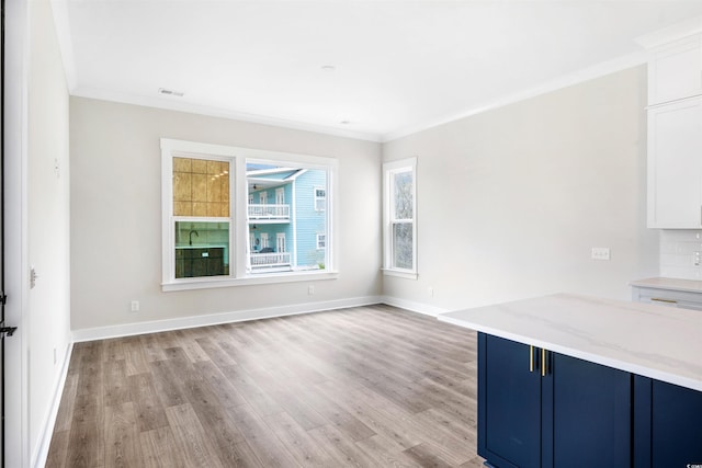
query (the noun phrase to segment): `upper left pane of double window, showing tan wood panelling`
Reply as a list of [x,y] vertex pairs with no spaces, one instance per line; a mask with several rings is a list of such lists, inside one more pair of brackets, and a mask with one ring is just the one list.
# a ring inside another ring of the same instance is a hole
[[229,162],[173,158],[173,215],[229,217]]

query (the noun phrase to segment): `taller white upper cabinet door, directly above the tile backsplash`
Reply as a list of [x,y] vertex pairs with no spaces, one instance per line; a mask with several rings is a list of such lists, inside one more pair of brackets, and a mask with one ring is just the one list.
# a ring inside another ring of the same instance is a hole
[[648,110],[648,227],[702,227],[702,98]]

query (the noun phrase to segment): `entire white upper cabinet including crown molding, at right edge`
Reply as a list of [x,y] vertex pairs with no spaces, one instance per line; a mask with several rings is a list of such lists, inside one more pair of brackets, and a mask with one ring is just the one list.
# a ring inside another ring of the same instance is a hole
[[702,228],[702,18],[638,41],[648,49],[649,228]]

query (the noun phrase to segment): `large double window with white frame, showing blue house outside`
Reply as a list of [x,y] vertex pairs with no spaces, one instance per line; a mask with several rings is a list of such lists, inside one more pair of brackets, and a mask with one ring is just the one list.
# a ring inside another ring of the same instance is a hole
[[165,290],[333,277],[336,160],[171,139],[161,157]]

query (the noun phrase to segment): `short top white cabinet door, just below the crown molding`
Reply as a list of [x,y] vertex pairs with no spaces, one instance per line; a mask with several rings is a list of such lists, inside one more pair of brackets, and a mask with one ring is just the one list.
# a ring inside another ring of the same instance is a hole
[[702,94],[702,35],[695,34],[650,50],[648,105]]

